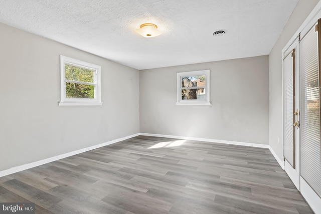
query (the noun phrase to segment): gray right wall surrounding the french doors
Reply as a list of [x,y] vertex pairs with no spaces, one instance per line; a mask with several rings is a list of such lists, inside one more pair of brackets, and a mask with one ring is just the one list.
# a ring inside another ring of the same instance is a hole
[[[276,155],[282,159],[282,49],[298,30],[306,17],[318,3],[318,0],[300,0],[284,27],[279,39],[269,54],[270,80],[270,124],[269,145]],[[278,142],[278,138],[280,142]]]

